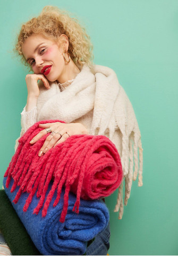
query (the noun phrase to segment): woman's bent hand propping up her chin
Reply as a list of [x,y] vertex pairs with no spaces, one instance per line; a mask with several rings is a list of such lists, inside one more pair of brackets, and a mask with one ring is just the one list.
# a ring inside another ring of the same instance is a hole
[[28,74],[26,76],[26,84],[28,90],[28,97],[38,98],[39,96],[39,87],[38,80],[41,80],[44,83],[44,86],[49,89],[49,82],[46,77],[42,74]]

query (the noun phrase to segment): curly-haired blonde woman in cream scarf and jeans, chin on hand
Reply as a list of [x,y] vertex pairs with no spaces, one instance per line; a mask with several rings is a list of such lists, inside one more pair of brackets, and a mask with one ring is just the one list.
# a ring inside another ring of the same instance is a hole
[[[126,204],[133,177],[132,141],[136,167],[139,147],[139,186],[142,186],[140,131],[131,103],[114,71],[92,64],[92,45],[84,28],[56,7],[46,6],[39,17],[22,26],[16,51],[33,71],[33,74],[26,76],[28,97],[21,113],[20,137],[37,121],[64,121],[65,124],[40,124],[43,130],[30,141],[34,144],[49,132],[38,152],[39,157],[43,157],[71,135],[106,135],[115,143],[122,159]],[[18,140],[15,148],[17,146]],[[137,178],[137,172],[135,170],[133,179]],[[118,211],[120,208],[120,219],[123,214],[122,189],[123,184],[115,209]],[[95,238],[86,253],[106,255],[108,249],[109,227]]]

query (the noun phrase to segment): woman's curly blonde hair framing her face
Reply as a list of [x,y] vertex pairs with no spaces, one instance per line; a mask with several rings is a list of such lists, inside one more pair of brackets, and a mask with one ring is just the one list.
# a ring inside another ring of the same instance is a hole
[[92,66],[92,49],[90,37],[76,18],[71,18],[66,11],[55,6],[45,6],[38,17],[22,25],[15,45],[15,52],[21,55],[24,65],[29,66],[22,52],[24,41],[32,34],[43,34],[54,40],[65,34],[69,39],[69,54],[75,65],[81,69],[84,63]]

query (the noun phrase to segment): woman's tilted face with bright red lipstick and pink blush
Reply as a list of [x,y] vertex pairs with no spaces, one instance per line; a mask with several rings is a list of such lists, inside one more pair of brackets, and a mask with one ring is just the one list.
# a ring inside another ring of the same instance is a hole
[[23,55],[33,72],[43,74],[50,82],[60,81],[66,71],[63,52],[68,49],[68,45],[65,35],[62,36],[66,44],[61,47],[52,39],[35,34],[29,36],[22,46]]

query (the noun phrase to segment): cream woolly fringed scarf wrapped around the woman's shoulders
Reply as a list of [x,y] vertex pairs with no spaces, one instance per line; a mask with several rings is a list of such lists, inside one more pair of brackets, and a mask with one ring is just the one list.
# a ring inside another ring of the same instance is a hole
[[[93,115],[89,113],[93,110]],[[132,180],[137,179],[142,186],[142,145],[137,119],[131,102],[118,83],[117,76],[110,68],[95,65],[91,71],[84,66],[64,91],[60,91],[56,83],[50,90],[40,88],[37,104],[37,121],[60,119],[66,123],[80,120],[88,126],[92,135],[105,135],[115,144],[121,146],[121,162],[125,178],[124,204],[130,197]],[[119,141],[114,134],[120,130]],[[139,157],[138,157],[139,149]],[[133,172],[134,166],[134,172]],[[123,215],[123,182],[118,188],[115,212],[120,210],[119,219]]]

